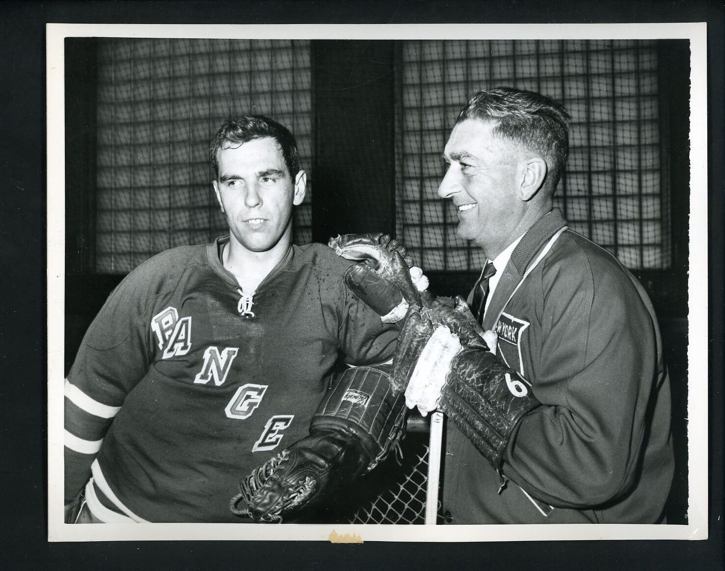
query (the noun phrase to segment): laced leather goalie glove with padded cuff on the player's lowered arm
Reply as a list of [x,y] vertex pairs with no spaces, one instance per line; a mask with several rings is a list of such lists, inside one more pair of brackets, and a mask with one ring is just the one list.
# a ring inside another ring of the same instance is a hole
[[347,369],[312,417],[310,435],[244,477],[231,511],[255,522],[281,522],[318,505],[385,459],[404,428],[404,400],[392,393],[387,374]]

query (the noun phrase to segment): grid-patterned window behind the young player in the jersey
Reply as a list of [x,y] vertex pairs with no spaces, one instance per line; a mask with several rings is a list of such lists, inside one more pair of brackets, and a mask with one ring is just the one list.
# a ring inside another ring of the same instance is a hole
[[99,41],[96,271],[125,274],[170,247],[227,227],[207,149],[223,121],[268,115],[297,139],[307,197],[294,241],[311,241],[309,41]]

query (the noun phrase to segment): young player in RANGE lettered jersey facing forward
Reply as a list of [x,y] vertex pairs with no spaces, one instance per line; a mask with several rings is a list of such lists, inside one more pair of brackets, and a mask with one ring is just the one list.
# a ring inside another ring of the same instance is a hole
[[[228,121],[210,161],[229,235],[133,270],[65,382],[67,522],[279,521],[399,438],[402,398],[375,367],[397,329],[351,295],[351,262],[291,245],[306,183],[291,133]],[[356,367],[329,390],[339,353]],[[270,499],[281,475],[294,493]]]

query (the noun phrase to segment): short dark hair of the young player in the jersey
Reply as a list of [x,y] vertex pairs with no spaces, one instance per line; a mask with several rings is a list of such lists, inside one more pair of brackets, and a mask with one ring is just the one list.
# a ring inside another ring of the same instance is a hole
[[209,164],[214,169],[215,175],[219,172],[218,155],[220,150],[225,149],[226,146],[238,146],[265,137],[271,137],[277,141],[289,175],[294,180],[299,172],[299,154],[294,135],[289,132],[288,128],[262,115],[241,115],[241,117],[226,120],[219,128],[209,146]]

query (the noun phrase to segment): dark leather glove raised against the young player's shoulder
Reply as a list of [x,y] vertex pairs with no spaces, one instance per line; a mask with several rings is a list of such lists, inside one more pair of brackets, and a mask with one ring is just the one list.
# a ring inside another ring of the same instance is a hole
[[423,270],[387,234],[345,234],[331,238],[328,246],[343,258],[361,262],[350,266],[345,282],[384,323],[400,321],[428,288]]

